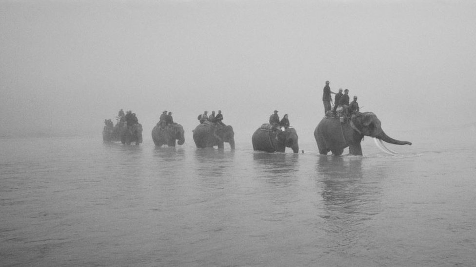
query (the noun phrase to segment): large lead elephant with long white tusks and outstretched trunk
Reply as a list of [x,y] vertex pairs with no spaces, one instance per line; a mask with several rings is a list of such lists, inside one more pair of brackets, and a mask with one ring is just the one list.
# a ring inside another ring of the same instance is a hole
[[382,141],[398,145],[412,144],[389,137],[382,130],[380,120],[372,112],[354,114],[343,122],[337,117],[326,116],[314,130],[314,137],[321,155],[327,155],[331,151],[334,155],[340,156],[344,148],[349,147],[350,155],[361,156],[360,142],[364,136],[376,138],[377,146],[390,154],[396,154],[396,152],[386,148]]

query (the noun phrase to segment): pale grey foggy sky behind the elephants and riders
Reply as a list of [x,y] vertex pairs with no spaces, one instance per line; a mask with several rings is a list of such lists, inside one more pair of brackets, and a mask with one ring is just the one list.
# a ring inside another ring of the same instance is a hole
[[3,0],[0,135],[101,136],[123,108],[193,142],[221,109],[251,142],[278,109],[312,142],[326,80],[389,135],[474,124],[475,25],[474,1]]

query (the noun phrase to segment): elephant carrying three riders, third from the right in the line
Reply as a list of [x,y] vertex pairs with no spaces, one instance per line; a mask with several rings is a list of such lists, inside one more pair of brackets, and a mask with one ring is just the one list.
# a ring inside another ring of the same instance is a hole
[[193,139],[198,148],[214,147],[223,148],[223,142],[230,144],[235,149],[235,132],[231,125],[220,125],[209,121],[199,124],[193,130]]

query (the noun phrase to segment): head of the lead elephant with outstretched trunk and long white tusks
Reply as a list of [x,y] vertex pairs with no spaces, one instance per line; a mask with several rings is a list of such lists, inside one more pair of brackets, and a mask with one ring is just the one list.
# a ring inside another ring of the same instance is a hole
[[[408,141],[400,141],[400,140],[396,140],[396,139],[393,139],[393,138],[389,137],[383,131],[383,129],[381,127],[380,120],[372,112],[364,112],[364,113],[360,113],[360,114],[354,116],[351,119],[350,126],[355,131],[357,131],[362,137],[365,135],[365,136],[370,136],[370,137],[377,138],[379,140],[380,144],[382,144],[382,145],[383,145],[383,143],[381,143],[381,141],[391,143],[391,144],[398,144],[398,145],[403,145],[403,144],[411,145],[412,144],[411,142],[408,142]],[[378,146],[378,144],[377,144],[377,146]],[[381,148],[381,147],[379,146],[379,148]],[[392,152],[388,148],[386,148],[384,145],[383,145],[383,148],[385,150],[387,150],[385,152]]]

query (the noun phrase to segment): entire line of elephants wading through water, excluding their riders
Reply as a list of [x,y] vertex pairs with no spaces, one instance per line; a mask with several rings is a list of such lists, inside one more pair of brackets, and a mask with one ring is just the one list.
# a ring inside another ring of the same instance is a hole
[[[220,125],[205,121],[193,130],[193,140],[198,148],[214,147],[223,148],[224,142],[235,149],[234,131],[231,125]],[[122,142],[123,144],[136,145],[142,142],[142,125],[126,126],[125,123],[104,126],[104,142]],[[362,155],[360,142],[364,136],[375,138],[377,146],[384,152],[395,154],[385,147],[383,142],[411,145],[411,142],[399,141],[389,137],[381,128],[380,120],[372,112],[363,112],[352,115],[345,120],[327,115],[319,122],[314,130],[319,154],[327,155],[329,152],[339,156],[345,148],[349,147],[350,155]],[[152,129],[152,140],[156,146],[175,146],[185,142],[183,127],[179,124],[170,124],[165,127],[156,125]],[[383,142],[382,142],[383,141]],[[284,152],[286,147],[299,152],[298,133],[296,129],[276,128],[270,124],[263,124],[253,133],[253,149],[265,152]]]

